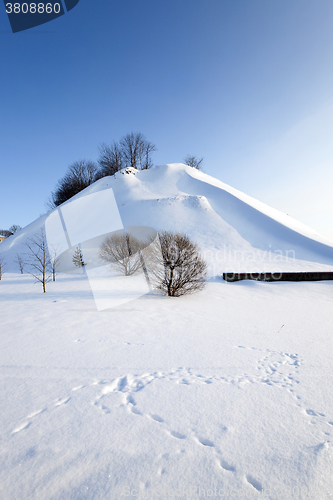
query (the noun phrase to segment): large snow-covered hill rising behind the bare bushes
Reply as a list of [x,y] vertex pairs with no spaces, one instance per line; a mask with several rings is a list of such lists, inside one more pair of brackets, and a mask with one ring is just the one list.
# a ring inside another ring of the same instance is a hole
[[[207,174],[183,164],[150,170],[127,168],[105,177],[75,198],[112,188],[125,226],[186,232],[200,246],[210,274],[224,271],[320,271],[333,269],[333,243],[316,231]],[[12,256],[46,216],[2,243]]]

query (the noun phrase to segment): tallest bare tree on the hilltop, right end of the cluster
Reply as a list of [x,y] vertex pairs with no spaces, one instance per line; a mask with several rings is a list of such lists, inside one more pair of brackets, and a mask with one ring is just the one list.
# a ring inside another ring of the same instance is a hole
[[152,166],[151,153],[156,147],[143,134],[132,132],[121,139],[120,150],[126,167],[145,169]]

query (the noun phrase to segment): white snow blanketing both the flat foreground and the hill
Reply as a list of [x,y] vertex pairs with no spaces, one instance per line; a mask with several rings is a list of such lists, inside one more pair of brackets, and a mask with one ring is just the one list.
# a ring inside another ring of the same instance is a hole
[[333,498],[333,282],[218,276],[241,252],[275,266],[269,245],[302,257],[281,267],[331,269],[332,244],[183,165],[77,198],[110,187],[124,225],[198,242],[207,286],[98,312],[85,276],[43,294],[15,272],[46,216],[1,243],[0,498]]

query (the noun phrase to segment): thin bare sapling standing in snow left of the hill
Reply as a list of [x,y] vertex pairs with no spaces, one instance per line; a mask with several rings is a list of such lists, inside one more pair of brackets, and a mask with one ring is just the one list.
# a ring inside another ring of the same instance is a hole
[[37,282],[42,283],[43,292],[46,293],[46,283],[52,279],[52,270],[44,229],[36,233],[33,238],[29,238],[26,247],[28,249],[28,273]]

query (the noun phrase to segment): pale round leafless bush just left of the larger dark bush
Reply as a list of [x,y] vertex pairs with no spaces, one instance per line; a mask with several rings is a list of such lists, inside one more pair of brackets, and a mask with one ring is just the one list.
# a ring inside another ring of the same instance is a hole
[[125,276],[142,272],[140,250],[146,243],[125,232],[108,236],[100,247],[100,258]]

